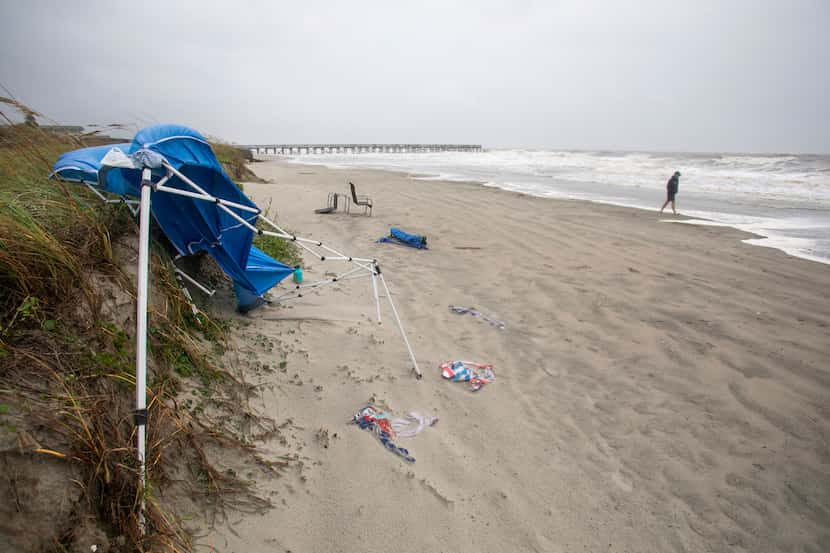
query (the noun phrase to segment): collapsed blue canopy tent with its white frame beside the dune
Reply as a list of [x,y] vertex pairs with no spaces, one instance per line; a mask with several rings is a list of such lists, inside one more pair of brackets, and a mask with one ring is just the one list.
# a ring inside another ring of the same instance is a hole
[[[276,300],[302,297],[302,289],[370,276],[380,322],[378,282],[386,294],[412,369],[422,376],[406,337],[392,294],[375,259],[347,256],[320,242],[289,234],[262,214],[225,174],[205,138],[187,127],[157,125],[143,129],[129,144],[83,148],[60,157],[52,176],[82,182],[101,191],[140,198],[136,294],[136,440],[139,490],[145,487],[147,426],[147,290],[150,215],[181,255],[208,252],[233,280],[240,308],[264,300],[263,294],[293,269],[252,246],[254,233],[293,240],[321,261],[345,261],[353,268],[318,282],[297,284]],[[95,178],[93,178],[93,176]],[[103,197],[103,196],[102,196]],[[273,230],[257,228],[263,221]],[[317,248],[317,249],[315,249]],[[144,498],[139,527],[144,532]]]

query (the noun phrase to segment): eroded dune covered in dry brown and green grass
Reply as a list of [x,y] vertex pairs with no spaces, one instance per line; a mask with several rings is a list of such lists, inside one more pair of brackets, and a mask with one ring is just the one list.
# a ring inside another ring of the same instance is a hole
[[[253,421],[260,437],[276,429],[244,410],[250,390],[212,362],[211,348],[221,351],[225,330],[202,313],[193,315],[169,259],[155,247],[148,486],[136,488],[135,292],[119,255],[135,240],[135,222],[120,205],[103,206],[81,187],[47,179],[60,153],[84,145],[82,138],[44,132],[31,121],[0,125],[0,461],[25,468],[49,459],[51,466],[71,469],[61,482],[65,489],[53,490],[55,497],[73,498],[71,512],[46,521],[52,534],[30,536],[28,545],[69,550],[81,521],[92,519],[110,551],[190,551],[190,537],[164,507],[164,491],[185,490],[219,512],[267,507],[251,482],[215,466],[209,451],[235,447],[260,474],[274,471],[280,464],[256,456],[253,434],[241,435],[235,430],[240,425],[227,421],[237,417],[249,427]],[[200,390],[208,409],[177,399],[187,386]],[[16,447],[4,448],[10,437]],[[25,521],[38,513],[27,511],[25,479],[14,476],[21,470],[5,471],[0,490],[11,490],[11,513]],[[144,536],[137,526],[142,497]]]

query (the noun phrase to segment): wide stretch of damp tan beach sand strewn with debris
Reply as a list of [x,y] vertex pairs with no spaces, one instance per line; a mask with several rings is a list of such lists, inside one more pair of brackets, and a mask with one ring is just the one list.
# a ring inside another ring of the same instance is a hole
[[[656,212],[253,169],[282,225],[380,260],[424,378],[370,280],[242,319],[243,349],[284,361],[250,377],[282,425],[263,449],[297,460],[258,484],[274,509],[231,515],[204,550],[830,551],[830,266]],[[349,180],[372,217],[313,212]],[[430,249],[376,244],[391,226]],[[307,280],[344,268],[307,263]],[[445,381],[450,359],[497,380]],[[348,424],[370,400],[439,417],[399,440],[415,463]]]

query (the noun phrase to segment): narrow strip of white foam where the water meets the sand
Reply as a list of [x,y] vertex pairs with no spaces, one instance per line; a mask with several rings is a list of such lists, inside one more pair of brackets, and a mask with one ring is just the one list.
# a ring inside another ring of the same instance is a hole
[[[751,155],[751,154],[747,154],[747,155]],[[505,186],[507,186],[507,185],[500,184],[500,183],[497,183],[497,182],[481,181],[481,180],[466,179],[466,178],[452,179],[452,178],[447,178],[446,175],[423,173],[423,172],[417,172],[417,171],[416,172],[408,172],[408,171],[402,171],[402,170],[398,171],[398,170],[394,170],[394,169],[379,169],[379,168],[368,168],[368,167],[357,167],[357,166],[342,166],[342,165],[337,165],[336,163],[328,164],[324,161],[308,161],[307,162],[307,161],[302,161],[301,159],[299,159],[297,157],[291,157],[291,156],[272,156],[270,159],[260,157],[260,158],[257,158],[257,162],[267,162],[267,161],[270,161],[272,159],[275,160],[275,161],[290,163],[290,164],[295,164],[295,165],[303,165],[303,166],[310,166],[310,167],[326,167],[327,169],[331,169],[331,170],[385,171],[385,172],[394,173],[394,174],[397,174],[397,175],[406,175],[408,178],[410,178],[412,180],[426,180],[426,181],[436,181],[436,182],[446,182],[446,183],[460,183],[460,182],[463,182],[463,183],[469,183],[469,184],[476,184],[476,185],[484,186],[484,187],[488,187],[488,188],[497,188],[497,189],[503,190],[505,192],[515,192],[515,193],[518,193],[518,194],[523,194],[523,195],[531,196],[531,197],[534,197],[534,198],[564,200],[564,201],[584,201],[584,202],[589,202],[589,203],[593,203],[593,204],[611,205],[611,206],[615,206],[615,207],[623,207],[623,208],[627,208],[627,209],[637,209],[637,210],[646,211],[646,212],[659,213],[659,208],[657,208],[657,207],[647,207],[647,206],[643,206],[643,205],[636,205],[636,204],[624,203],[624,202],[614,202],[614,201],[611,201],[611,200],[603,200],[603,199],[569,198],[569,197],[564,197],[564,196],[553,196],[553,195],[545,196],[545,195],[540,195],[540,194],[533,194],[531,192],[526,192],[526,191],[511,190],[509,188],[505,188]],[[692,211],[694,211],[694,210],[692,210]],[[671,214],[666,214],[666,215],[671,217]],[[732,228],[734,230],[744,232],[744,233],[747,233],[747,234],[751,235],[750,238],[745,239],[746,244],[749,244],[749,245],[752,245],[752,246],[759,246],[759,247],[763,247],[763,248],[772,248],[772,249],[781,251],[781,252],[783,252],[783,253],[787,254],[788,256],[790,256],[792,258],[795,258],[795,259],[802,259],[802,260],[812,261],[814,263],[819,263],[819,264],[822,264],[822,265],[830,265],[830,257],[816,256],[816,255],[812,255],[812,254],[809,254],[809,253],[801,252],[794,246],[782,245],[782,244],[780,244],[781,237],[773,237],[771,234],[762,234],[761,232],[758,232],[756,230],[748,230],[748,229],[745,229],[745,228],[741,228],[741,225],[739,223],[720,222],[720,221],[716,221],[714,219],[709,219],[709,218],[702,217],[702,216],[686,215],[686,214],[683,214],[683,213],[679,213],[677,215],[677,217],[683,217],[684,219],[682,219],[682,220],[681,219],[676,219],[676,220],[668,219],[665,222],[671,222],[671,223],[680,222],[680,223],[689,224],[689,225],[718,226],[718,227],[724,227],[724,228]],[[765,242],[769,242],[769,243],[765,243]]]

